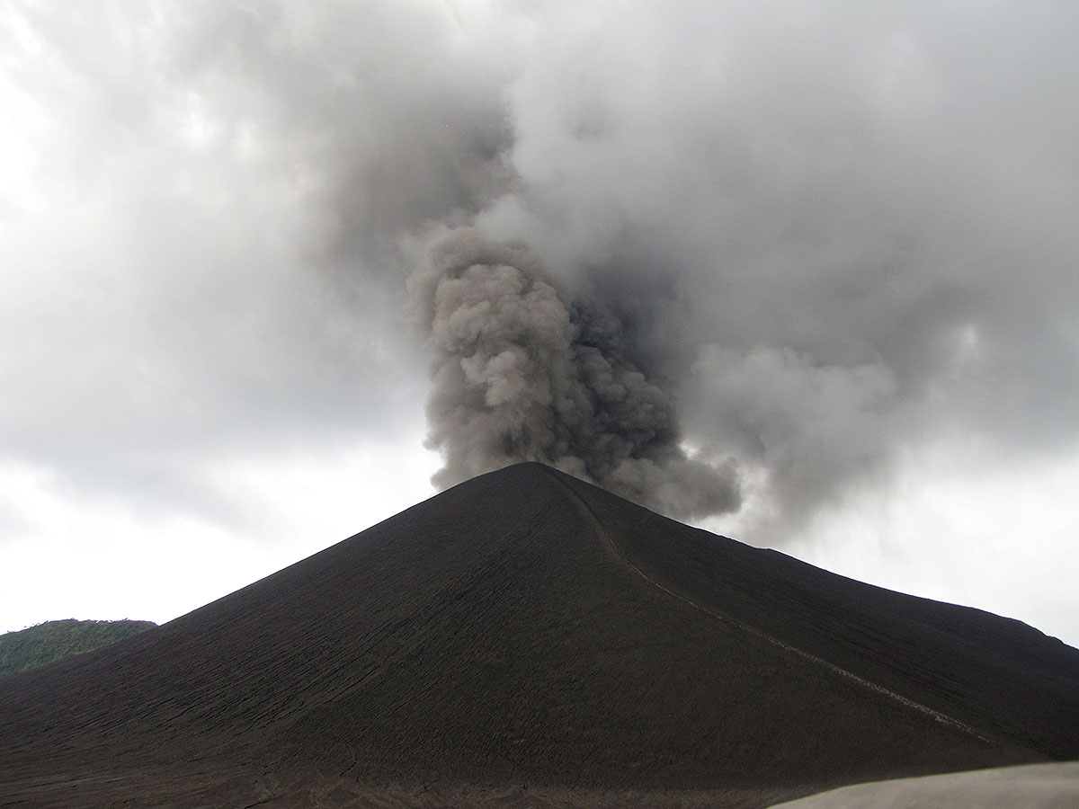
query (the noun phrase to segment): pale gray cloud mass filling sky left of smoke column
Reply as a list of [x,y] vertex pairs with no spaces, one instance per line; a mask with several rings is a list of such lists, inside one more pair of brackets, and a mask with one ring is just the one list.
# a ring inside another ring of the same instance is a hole
[[220,515],[217,463],[411,433],[397,243],[501,188],[496,66],[422,2],[80,11],[0,25],[2,454]]

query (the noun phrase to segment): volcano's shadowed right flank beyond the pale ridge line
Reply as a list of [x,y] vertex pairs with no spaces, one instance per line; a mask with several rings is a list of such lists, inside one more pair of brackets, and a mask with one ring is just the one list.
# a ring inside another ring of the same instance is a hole
[[657,585],[984,732],[1079,758],[1079,650],[1016,620],[855,581],[566,484]]

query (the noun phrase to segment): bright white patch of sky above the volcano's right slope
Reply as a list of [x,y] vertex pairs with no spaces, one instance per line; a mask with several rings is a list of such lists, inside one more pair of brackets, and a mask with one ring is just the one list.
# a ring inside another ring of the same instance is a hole
[[1079,455],[986,464],[943,445],[828,509],[789,552],[851,578],[1017,618],[1079,646]]

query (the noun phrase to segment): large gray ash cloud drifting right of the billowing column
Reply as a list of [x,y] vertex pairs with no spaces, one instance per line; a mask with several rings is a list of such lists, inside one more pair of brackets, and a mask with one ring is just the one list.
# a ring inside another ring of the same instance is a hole
[[939,442],[1074,449],[1076,19],[1039,8],[682,3],[622,14],[625,43],[573,11],[537,36],[518,183],[478,223],[624,319],[687,439],[753,472],[754,540]]

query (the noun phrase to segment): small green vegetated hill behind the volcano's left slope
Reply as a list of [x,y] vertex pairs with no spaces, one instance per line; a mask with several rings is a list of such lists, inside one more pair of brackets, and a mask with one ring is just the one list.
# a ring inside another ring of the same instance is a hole
[[0,634],[0,676],[109,646],[153,629],[153,621],[45,621]]

